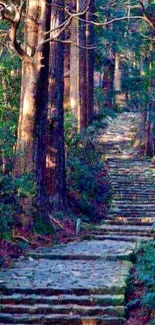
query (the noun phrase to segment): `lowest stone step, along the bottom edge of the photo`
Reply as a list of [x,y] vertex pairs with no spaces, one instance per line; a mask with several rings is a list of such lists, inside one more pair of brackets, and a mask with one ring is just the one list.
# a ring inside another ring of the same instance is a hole
[[[50,324],[50,325],[81,325],[81,324],[95,324],[95,325],[122,325],[125,321],[123,317],[108,317],[96,316],[87,317],[79,315],[32,315],[29,314],[4,314],[1,313],[1,322],[8,324]],[[1,324],[1,323],[0,323]]]

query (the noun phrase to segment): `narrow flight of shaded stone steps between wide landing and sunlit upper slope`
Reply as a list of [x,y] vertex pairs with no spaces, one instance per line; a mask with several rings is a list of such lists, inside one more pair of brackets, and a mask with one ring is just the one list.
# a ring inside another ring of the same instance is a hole
[[111,207],[96,239],[147,240],[155,236],[155,166],[151,161],[109,160]]

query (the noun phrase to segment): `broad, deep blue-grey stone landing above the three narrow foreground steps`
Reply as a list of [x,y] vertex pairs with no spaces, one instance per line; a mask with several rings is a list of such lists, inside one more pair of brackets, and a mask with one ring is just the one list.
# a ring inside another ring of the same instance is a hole
[[[113,254],[113,250],[111,252]],[[11,269],[1,270],[0,291],[44,296],[124,294],[125,274],[128,275],[130,267],[126,261],[120,265],[119,260],[103,261],[102,258],[80,263],[78,260],[27,258],[16,262]]]

